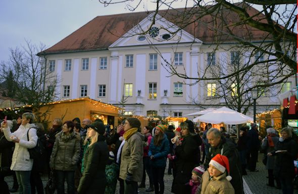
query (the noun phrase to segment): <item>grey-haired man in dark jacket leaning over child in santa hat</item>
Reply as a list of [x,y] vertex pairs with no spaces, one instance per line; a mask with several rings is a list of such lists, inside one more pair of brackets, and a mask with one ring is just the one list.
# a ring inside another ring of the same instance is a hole
[[230,182],[235,189],[235,193],[244,194],[241,162],[235,145],[230,140],[222,137],[217,128],[211,128],[207,132],[207,139],[211,147],[209,154],[206,155],[206,162],[204,163],[205,169],[207,170],[209,162],[215,155],[221,154],[226,156],[229,159],[230,176],[232,176]]

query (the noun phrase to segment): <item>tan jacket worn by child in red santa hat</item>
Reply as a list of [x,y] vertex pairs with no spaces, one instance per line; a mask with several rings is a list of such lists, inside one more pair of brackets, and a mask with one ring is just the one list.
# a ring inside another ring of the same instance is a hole
[[201,194],[234,194],[235,192],[232,184],[226,179],[226,174],[223,173],[217,177],[210,179],[210,174],[205,171],[202,182]]

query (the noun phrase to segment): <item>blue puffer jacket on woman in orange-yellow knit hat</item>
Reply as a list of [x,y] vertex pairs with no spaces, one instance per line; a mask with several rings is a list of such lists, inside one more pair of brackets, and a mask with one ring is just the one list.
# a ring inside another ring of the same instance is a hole
[[154,156],[154,159],[150,160],[150,166],[166,167],[167,165],[167,155],[170,153],[170,145],[167,136],[165,134],[163,135],[164,138],[162,139],[160,146],[154,145],[154,138],[156,138],[156,136],[152,138],[149,146],[148,156]]

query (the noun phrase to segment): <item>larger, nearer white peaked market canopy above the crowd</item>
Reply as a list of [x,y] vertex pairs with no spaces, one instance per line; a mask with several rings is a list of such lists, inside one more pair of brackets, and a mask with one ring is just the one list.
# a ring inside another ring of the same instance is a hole
[[208,122],[213,124],[222,122],[225,124],[242,124],[246,122],[253,122],[254,119],[224,106],[202,116],[198,116],[194,118],[193,121]]

